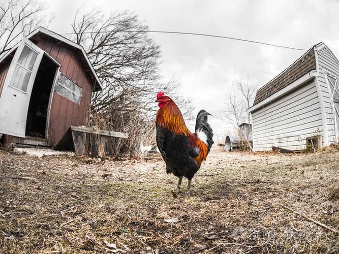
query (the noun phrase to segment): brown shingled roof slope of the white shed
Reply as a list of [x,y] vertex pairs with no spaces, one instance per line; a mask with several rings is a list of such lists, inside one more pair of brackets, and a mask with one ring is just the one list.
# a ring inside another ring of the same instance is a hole
[[256,93],[256,98],[253,105],[256,105],[259,102],[270,97],[273,93],[288,86],[293,81],[297,80],[306,73],[309,73],[312,70],[316,70],[317,64],[314,48],[317,45],[313,46],[281,74],[279,74],[274,79],[269,81],[266,85],[261,87]]

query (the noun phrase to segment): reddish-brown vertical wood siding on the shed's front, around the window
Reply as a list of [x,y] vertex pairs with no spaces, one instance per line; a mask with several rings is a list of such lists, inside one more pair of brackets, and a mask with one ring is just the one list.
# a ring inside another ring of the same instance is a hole
[[41,38],[37,45],[60,63],[61,73],[81,87],[80,105],[56,92],[53,93],[48,139],[50,145],[54,146],[71,124],[84,125],[88,122],[92,83],[85,72],[80,57],[73,48],[64,43],[55,43],[49,38]]

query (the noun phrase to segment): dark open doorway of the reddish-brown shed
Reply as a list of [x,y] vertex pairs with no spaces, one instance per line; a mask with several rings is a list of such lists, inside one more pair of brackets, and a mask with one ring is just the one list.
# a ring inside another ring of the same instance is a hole
[[47,138],[48,106],[58,66],[44,54],[34,81],[26,122],[26,136]]

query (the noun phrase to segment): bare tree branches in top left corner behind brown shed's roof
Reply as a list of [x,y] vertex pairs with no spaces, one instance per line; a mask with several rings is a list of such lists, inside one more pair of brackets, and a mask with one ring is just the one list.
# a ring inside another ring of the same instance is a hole
[[42,15],[42,3],[35,0],[0,0],[0,55],[8,51],[21,35],[28,35],[49,21]]

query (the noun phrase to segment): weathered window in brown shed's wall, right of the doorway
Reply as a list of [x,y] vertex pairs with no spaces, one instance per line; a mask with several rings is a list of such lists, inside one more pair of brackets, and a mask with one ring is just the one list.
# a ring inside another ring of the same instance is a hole
[[54,91],[60,96],[71,100],[74,103],[80,104],[81,88],[75,82],[67,78],[64,74],[60,73],[55,84]]

